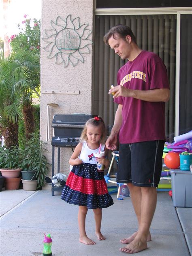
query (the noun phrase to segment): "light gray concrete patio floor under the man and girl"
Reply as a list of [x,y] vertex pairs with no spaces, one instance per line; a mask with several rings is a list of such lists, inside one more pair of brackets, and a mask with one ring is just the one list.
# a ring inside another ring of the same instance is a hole
[[[87,213],[87,235],[96,245],[79,243],[78,207],[60,199],[60,192],[50,190],[3,190],[0,192],[0,255],[43,255],[44,235],[53,239],[53,256],[120,256],[120,239],[137,230],[130,197],[117,200],[103,209],[102,234],[94,234],[93,211]],[[175,208],[168,193],[158,192],[158,203],[151,224],[152,241],[139,256],[190,256],[192,253],[192,208]]]

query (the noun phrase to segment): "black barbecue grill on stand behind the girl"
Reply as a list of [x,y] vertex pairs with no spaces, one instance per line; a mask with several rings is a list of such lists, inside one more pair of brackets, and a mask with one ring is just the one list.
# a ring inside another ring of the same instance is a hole
[[[81,137],[81,132],[88,119],[96,115],[71,114],[71,115],[55,115],[52,122],[54,136],[51,140],[52,145],[52,177],[55,175],[55,147],[58,148],[58,170],[60,173],[60,147],[76,147]],[[52,183],[51,192],[62,191],[62,188],[54,187]]]

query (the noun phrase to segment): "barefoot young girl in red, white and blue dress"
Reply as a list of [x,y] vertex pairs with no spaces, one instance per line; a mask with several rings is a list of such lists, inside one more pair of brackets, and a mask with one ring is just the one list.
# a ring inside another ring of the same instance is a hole
[[[79,205],[78,224],[79,241],[87,245],[95,244],[85,232],[85,218],[88,209],[93,209],[98,240],[105,240],[102,235],[101,218],[102,208],[113,205],[113,199],[108,193],[103,172],[97,171],[96,161],[109,166],[107,158],[95,158],[94,153],[105,148],[106,128],[101,117],[89,119],[81,133],[80,143],[69,160],[73,169],[69,173],[61,199],[67,203]],[[105,155],[107,151],[105,149]]]

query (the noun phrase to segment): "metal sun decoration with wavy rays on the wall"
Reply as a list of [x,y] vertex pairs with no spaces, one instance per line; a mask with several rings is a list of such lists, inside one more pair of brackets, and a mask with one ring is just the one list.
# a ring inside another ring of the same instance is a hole
[[88,24],[80,26],[79,18],[72,19],[68,15],[66,20],[60,16],[57,17],[55,23],[51,20],[53,29],[46,30],[43,41],[49,43],[45,51],[49,52],[47,58],[56,57],[56,64],[62,64],[66,68],[71,62],[76,66],[79,60],[84,63],[83,54],[90,54],[88,45],[93,42],[89,38],[92,31],[87,29]]

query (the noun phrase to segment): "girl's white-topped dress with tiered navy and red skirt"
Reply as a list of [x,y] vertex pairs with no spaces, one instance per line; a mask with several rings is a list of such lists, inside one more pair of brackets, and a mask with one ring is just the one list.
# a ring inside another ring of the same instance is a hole
[[[74,165],[70,171],[61,199],[73,205],[86,206],[88,209],[107,208],[113,205],[113,199],[107,190],[103,172],[99,173],[94,153],[98,149],[90,149],[87,142],[82,143],[79,158],[82,164]],[[104,151],[102,145],[101,151]]]

